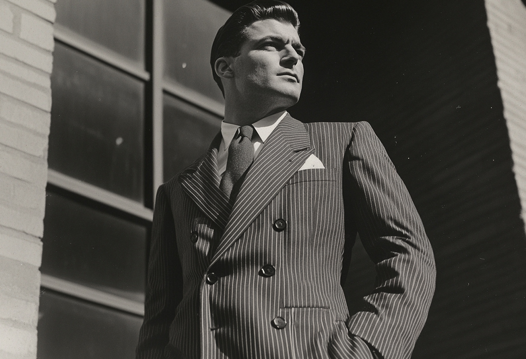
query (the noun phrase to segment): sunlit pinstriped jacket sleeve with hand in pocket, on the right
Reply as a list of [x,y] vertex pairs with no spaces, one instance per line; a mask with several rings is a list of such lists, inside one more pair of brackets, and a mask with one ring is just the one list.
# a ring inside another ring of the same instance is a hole
[[375,263],[375,289],[348,322],[377,357],[409,358],[427,319],[436,268],[406,186],[367,122],[355,123],[343,189],[363,247]]

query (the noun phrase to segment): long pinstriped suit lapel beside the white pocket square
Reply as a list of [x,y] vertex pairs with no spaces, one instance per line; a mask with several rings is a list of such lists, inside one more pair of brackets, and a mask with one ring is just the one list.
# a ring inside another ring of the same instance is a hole
[[314,150],[305,125],[287,114],[250,167],[210,265],[239,239]]

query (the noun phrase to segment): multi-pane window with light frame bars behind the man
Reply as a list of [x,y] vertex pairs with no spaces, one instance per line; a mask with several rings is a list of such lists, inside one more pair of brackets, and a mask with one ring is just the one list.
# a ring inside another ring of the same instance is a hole
[[222,96],[206,0],[58,0],[38,357],[133,356],[156,188],[205,151]]

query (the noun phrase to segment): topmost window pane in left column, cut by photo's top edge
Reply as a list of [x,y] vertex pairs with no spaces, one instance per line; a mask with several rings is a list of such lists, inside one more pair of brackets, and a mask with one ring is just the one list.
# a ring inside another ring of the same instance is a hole
[[144,0],[60,0],[55,9],[58,24],[144,68]]

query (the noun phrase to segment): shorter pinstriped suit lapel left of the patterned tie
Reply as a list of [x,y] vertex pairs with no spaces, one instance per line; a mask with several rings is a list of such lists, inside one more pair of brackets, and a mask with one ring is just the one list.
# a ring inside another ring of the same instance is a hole
[[218,133],[208,151],[180,174],[179,183],[199,209],[224,229],[232,207],[219,189],[217,150],[220,142],[221,133]]

